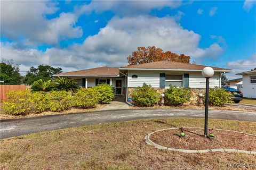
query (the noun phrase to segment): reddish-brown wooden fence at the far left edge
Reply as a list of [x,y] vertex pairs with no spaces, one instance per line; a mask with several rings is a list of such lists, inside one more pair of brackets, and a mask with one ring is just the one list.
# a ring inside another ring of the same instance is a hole
[[0,101],[7,100],[7,92],[10,90],[26,90],[28,86],[26,85],[0,85]]

